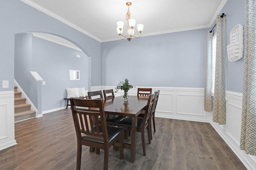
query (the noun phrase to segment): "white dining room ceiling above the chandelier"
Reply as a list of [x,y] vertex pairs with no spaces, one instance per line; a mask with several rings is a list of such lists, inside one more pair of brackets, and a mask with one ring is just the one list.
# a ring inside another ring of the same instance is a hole
[[[100,42],[118,40],[128,0],[21,0]],[[211,27],[227,0],[130,0],[131,18],[144,24],[141,36]],[[137,28],[135,35],[138,35]]]

